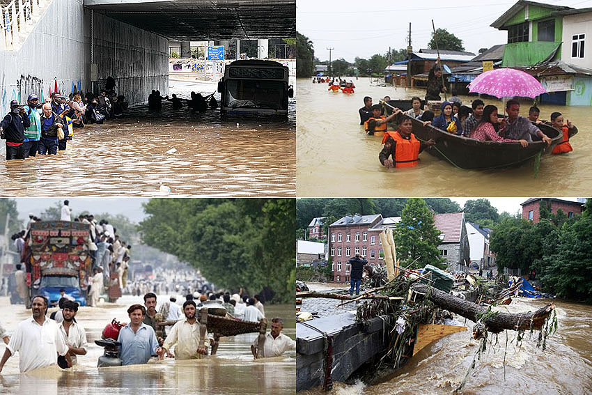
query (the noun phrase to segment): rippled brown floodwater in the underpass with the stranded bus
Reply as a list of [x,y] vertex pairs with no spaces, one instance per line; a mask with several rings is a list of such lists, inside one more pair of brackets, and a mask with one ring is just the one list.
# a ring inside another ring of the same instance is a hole
[[[208,95],[216,84],[169,84],[180,98],[191,91]],[[288,118],[222,120],[219,109],[173,111],[171,102],[162,111],[134,107],[120,121],[76,129],[58,155],[2,157],[0,189],[3,196],[295,196],[295,111],[294,99]]]

